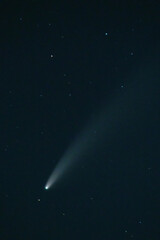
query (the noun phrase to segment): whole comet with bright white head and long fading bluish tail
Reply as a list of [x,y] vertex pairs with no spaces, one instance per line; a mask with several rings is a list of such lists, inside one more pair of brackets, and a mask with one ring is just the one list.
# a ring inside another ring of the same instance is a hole
[[[141,116],[144,113],[140,110],[139,103],[142,104],[142,107],[146,106],[150,88],[146,87],[146,82],[145,88],[144,83],[141,83],[138,82],[139,88],[136,84],[131,84],[124,94],[114,98],[112,103],[109,103],[100,114],[97,114],[94,121],[88,123],[56,165],[45,185],[46,190],[62,180],[64,176],[66,177],[88,154],[93,153],[102,144],[104,138],[105,141],[111,142],[116,138],[117,130],[126,127],[126,122],[134,124],[135,116],[137,114]],[[147,92],[144,94],[146,90]],[[138,108],[134,109],[135,106]],[[131,109],[132,111],[130,111]]]

